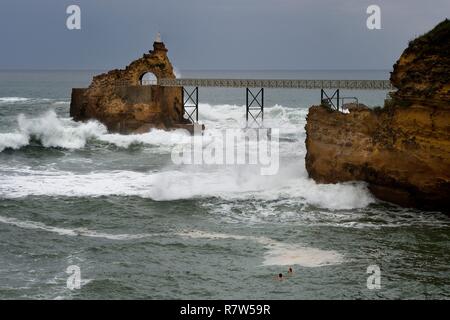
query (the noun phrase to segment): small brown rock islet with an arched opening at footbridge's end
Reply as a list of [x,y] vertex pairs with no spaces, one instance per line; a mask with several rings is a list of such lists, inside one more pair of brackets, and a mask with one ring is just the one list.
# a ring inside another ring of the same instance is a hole
[[191,122],[183,118],[182,88],[142,85],[148,72],[157,79],[175,78],[164,43],[154,42],[152,51],[124,70],[95,76],[89,88],[74,88],[70,115],[76,121],[96,119],[112,132],[190,129]]

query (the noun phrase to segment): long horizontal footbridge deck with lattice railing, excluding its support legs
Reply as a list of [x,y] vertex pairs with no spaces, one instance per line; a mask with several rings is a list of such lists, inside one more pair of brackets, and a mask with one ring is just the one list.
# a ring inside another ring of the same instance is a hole
[[[145,83],[144,83],[145,84]],[[159,79],[166,87],[393,90],[389,80]]]

